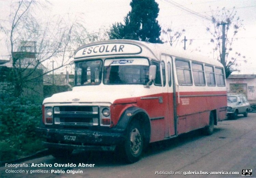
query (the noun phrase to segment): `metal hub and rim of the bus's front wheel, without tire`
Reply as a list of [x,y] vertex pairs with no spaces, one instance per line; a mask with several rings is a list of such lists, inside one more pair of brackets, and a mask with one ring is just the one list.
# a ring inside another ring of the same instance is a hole
[[141,149],[141,135],[140,135],[140,132],[137,128],[134,128],[131,131],[130,142],[131,142],[132,152],[134,154],[137,154]]

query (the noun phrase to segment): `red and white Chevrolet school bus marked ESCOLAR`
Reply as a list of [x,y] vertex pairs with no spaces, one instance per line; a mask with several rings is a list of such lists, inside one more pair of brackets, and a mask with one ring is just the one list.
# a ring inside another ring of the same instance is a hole
[[119,147],[138,161],[148,143],[195,129],[212,134],[226,118],[223,65],[165,44],[109,40],[74,57],[72,91],[43,101],[40,130],[55,157]]

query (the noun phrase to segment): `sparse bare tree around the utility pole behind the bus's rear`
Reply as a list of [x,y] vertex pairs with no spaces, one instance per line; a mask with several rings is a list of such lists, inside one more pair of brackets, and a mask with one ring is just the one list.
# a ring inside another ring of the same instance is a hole
[[213,51],[217,54],[217,59],[222,59],[222,40],[223,40],[223,25],[225,25],[225,72],[226,78],[233,72],[237,71],[237,60],[242,59],[244,62],[245,56],[239,52],[232,52],[232,45],[239,30],[244,29],[243,20],[237,16],[235,7],[231,11],[225,7],[217,11],[212,10],[212,26],[207,28],[207,31],[212,35],[211,43],[214,44]]

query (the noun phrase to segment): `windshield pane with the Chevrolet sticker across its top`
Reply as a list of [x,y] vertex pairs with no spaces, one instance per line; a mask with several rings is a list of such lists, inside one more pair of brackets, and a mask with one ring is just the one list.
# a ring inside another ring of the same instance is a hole
[[146,84],[149,63],[147,59],[115,59],[104,63],[104,84]]

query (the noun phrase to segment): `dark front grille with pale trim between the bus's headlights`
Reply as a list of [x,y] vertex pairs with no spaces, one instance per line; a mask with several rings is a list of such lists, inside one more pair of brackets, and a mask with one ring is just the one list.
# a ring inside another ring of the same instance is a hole
[[98,125],[97,106],[55,106],[54,124],[58,125]]

